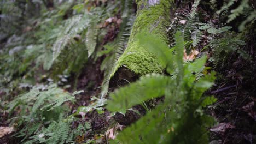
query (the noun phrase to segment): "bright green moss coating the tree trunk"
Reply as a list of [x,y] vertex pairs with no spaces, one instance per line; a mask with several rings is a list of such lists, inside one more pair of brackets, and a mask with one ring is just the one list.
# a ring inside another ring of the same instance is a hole
[[[140,3],[138,7],[141,7],[141,3],[143,5],[145,3],[145,1],[137,2]],[[154,6],[144,5],[144,8],[138,11],[127,48],[119,58],[111,77],[120,67],[126,67],[136,75],[161,73],[162,68],[156,57],[141,47],[135,37],[138,32],[149,31],[160,37],[163,43],[167,43],[166,27],[170,23],[170,5],[170,1],[162,0]]]

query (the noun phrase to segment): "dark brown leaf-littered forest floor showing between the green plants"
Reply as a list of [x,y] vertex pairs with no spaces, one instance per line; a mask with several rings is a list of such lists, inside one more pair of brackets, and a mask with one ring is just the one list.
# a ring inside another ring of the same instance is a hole
[[[117,15],[116,17],[120,17]],[[102,41],[101,45],[108,41],[113,41],[117,36],[118,28],[108,29],[108,33]],[[207,92],[209,95],[214,95],[218,100],[211,106],[208,106],[207,113],[217,119],[218,124],[209,128],[211,131],[210,139],[212,143],[253,143],[256,141],[256,75],[247,75],[247,71],[256,74],[256,49],[255,34],[251,38],[251,49],[248,50],[253,57],[253,63],[247,63],[240,57],[231,57],[232,61],[226,64],[226,69],[213,69],[217,71],[217,75],[222,75],[223,79],[217,77],[214,87]],[[98,58],[96,61],[89,59],[84,65],[82,73],[78,77],[78,81],[72,81],[71,74],[69,84],[72,89],[67,91],[72,92],[73,88],[83,89],[84,92],[77,95],[75,103],[68,103],[72,113],[78,109],[79,106],[88,106],[92,96],[101,93],[101,85],[103,82],[103,71],[100,70],[101,63],[104,56]],[[211,63],[207,63],[211,66]],[[0,96],[4,94],[0,90]],[[89,122],[91,124],[90,130],[84,135],[88,139],[101,139],[102,135],[106,136],[109,133],[109,128],[115,127],[117,123],[114,121],[110,112],[104,109],[103,114],[98,114],[96,110],[89,113],[80,113],[79,120],[72,123],[72,127],[78,127],[79,123]],[[84,115],[83,115],[84,114]],[[4,121],[0,122],[2,126],[8,126],[8,113],[1,113],[0,117]],[[84,117],[83,117],[84,116]],[[19,139],[5,135],[0,139],[0,143],[19,143]],[[112,136],[113,137],[113,136]],[[79,137],[78,137],[79,138]],[[86,138],[87,139],[87,138]],[[102,140],[102,142],[106,142]]]

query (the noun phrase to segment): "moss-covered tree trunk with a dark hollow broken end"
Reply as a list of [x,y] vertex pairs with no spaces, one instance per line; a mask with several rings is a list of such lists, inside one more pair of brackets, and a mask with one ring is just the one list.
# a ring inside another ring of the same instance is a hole
[[[155,34],[167,43],[166,27],[170,23],[170,0],[141,0],[138,4],[137,17],[133,24],[132,32],[127,43],[127,48],[118,59],[117,65],[111,75],[110,87],[123,85],[120,80],[134,81],[139,76],[148,73],[161,73],[162,67],[156,57],[149,53],[144,47],[139,45],[136,35],[142,31]],[[142,114],[145,113],[143,107],[136,106],[133,109]],[[125,116],[117,113],[114,119],[123,125],[128,125],[136,121],[140,115],[134,111],[127,111]]]

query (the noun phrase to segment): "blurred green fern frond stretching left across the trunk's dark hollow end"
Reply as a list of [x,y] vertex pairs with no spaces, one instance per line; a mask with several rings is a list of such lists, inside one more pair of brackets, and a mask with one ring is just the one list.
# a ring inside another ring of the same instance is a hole
[[126,110],[143,101],[161,97],[165,94],[164,89],[169,82],[171,80],[168,77],[160,74],[143,76],[139,81],[110,94],[111,101],[107,109],[110,111]]

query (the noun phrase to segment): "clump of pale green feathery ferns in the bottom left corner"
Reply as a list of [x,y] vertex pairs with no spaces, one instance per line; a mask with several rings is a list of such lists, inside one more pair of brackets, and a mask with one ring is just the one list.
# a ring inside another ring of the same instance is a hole
[[[23,143],[72,141],[72,135],[69,135],[70,122],[64,121],[70,110],[68,105],[63,104],[66,101],[74,101],[74,95],[80,92],[70,94],[56,85],[39,85],[28,93],[18,95],[7,106],[9,116],[20,109],[18,115],[9,119],[19,130],[15,136],[21,137]],[[71,136],[70,140],[68,136]]]

